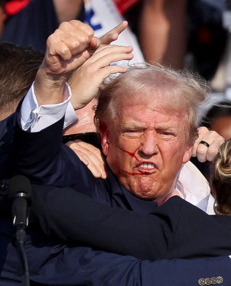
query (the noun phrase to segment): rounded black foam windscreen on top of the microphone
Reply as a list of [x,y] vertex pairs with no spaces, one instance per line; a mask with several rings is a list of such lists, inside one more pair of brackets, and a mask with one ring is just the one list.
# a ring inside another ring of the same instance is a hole
[[32,195],[30,180],[22,175],[17,175],[10,179],[8,190],[8,198],[10,200],[13,200],[18,193],[26,193],[28,197]]

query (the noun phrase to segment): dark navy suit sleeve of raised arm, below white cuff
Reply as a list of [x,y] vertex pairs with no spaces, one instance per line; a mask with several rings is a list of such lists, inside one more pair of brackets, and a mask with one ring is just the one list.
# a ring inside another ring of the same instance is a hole
[[95,178],[76,154],[62,143],[64,118],[40,132],[16,124],[13,168],[31,183],[92,190]]

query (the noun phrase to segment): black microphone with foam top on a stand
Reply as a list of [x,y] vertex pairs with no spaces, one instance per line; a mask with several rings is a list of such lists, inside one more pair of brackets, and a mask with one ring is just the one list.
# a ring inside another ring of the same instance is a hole
[[13,224],[16,228],[16,239],[24,244],[25,228],[28,225],[29,208],[31,204],[31,184],[27,177],[17,175],[8,184],[8,198],[12,201]]

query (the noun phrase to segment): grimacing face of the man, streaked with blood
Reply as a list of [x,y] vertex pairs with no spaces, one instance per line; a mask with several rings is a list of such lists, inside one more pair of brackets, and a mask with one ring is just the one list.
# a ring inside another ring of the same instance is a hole
[[186,146],[184,112],[161,107],[156,100],[124,103],[118,118],[106,126],[101,130],[103,152],[120,183],[158,204],[171,197],[181,164],[192,151]]

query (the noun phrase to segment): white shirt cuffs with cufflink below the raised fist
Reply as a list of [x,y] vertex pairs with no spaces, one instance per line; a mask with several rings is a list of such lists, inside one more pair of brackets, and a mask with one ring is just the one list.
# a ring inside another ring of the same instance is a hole
[[30,132],[39,132],[60,120],[64,114],[64,128],[67,127],[77,119],[75,110],[70,103],[71,95],[70,86],[66,83],[62,103],[39,106],[33,84],[21,106],[21,118],[18,120],[21,128],[25,131],[30,129]]

